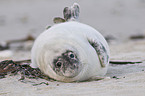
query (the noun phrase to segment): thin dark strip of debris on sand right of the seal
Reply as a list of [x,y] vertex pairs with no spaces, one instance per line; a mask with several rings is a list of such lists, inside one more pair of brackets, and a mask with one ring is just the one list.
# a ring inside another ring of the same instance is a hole
[[142,61],[129,61],[129,60],[110,60],[109,62],[111,64],[117,64],[117,65],[142,63]]

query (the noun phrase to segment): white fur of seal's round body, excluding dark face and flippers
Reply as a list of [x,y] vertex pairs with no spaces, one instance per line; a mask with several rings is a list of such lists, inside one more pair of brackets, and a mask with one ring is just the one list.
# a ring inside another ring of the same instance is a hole
[[[32,48],[31,66],[39,67],[49,77],[64,82],[83,81],[103,76],[107,72],[109,62],[104,68],[101,67],[98,55],[88,39],[101,42],[109,55],[106,40],[94,28],[76,21],[56,24],[36,39]],[[81,72],[74,78],[59,76],[51,68],[53,59],[67,49],[76,52],[82,64]]]

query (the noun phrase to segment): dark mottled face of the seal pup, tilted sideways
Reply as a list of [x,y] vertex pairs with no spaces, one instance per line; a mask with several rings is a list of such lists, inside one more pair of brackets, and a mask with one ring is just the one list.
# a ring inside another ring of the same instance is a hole
[[79,74],[79,67],[77,54],[71,50],[66,50],[53,60],[53,70],[59,76],[73,78]]

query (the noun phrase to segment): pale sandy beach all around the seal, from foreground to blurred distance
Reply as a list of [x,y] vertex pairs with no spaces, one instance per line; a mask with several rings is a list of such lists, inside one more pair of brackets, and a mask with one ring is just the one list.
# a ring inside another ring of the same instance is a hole
[[[55,16],[62,17],[65,6],[75,1],[57,2],[0,1],[0,42],[22,39],[29,34],[37,37],[47,25],[53,25]],[[111,60],[142,63],[110,64],[106,78],[98,81],[63,83],[28,78],[19,81],[20,74],[7,75],[0,79],[0,96],[145,96],[145,38],[129,39],[134,34],[145,35],[145,1],[90,0],[88,3],[85,0],[78,3],[81,6],[81,22],[95,27],[105,37],[114,38],[109,43]],[[30,59],[32,45],[33,41],[12,44],[6,50],[7,56],[1,55],[0,51],[0,61]]]

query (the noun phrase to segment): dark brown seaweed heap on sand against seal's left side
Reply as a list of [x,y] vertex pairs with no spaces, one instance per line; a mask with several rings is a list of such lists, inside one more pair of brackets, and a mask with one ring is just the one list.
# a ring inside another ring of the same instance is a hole
[[30,66],[31,60],[22,60],[22,61],[13,61],[13,60],[5,60],[0,62],[0,79],[4,78],[5,75],[8,74],[17,74],[18,72],[21,74],[21,78],[19,80],[24,80],[26,78],[43,78],[49,79],[45,76],[38,68],[32,68]]

